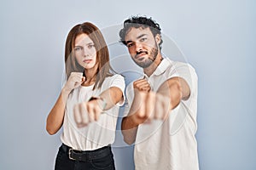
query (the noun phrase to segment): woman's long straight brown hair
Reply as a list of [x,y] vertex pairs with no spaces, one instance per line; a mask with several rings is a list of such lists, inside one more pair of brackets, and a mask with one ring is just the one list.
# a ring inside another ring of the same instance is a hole
[[102,32],[90,22],[84,22],[83,24],[74,26],[67,35],[65,48],[67,79],[71,72],[84,72],[84,67],[79,65],[74,56],[75,38],[83,33],[90,37],[96,47],[96,63],[98,63],[98,68],[96,72],[96,82],[93,89],[100,88],[105,77],[113,76],[114,71],[109,64],[108,47],[104,37],[102,36]]

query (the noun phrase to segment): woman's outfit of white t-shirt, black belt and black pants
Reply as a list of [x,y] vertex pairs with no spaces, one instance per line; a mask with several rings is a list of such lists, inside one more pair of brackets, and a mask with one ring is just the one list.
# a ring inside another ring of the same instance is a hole
[[[79,169],[80,167],[86,167],[86,169],[114,169],[113,153],[110,145],[113,144],[115,138],[119,106],[123,105],[125,101],[121,101],[108,111],[104,111],[98,121],[90,122],[86,127],[80,128],[77,127],[74,121],[73,106],[88,101],[91,96],[99,96],[111,87],[119,88],[125,99],[125,80],[124,77],[116,74],[112,77],[106,77],[100,88],[93,90],[93,86],[80,86],[73,89],[73,92],[68,95],[62,125],[63,133],[61,134],[63,144],[55,161],[55,169],[65,169],[64,165],[66,164],[70,167],[66,169]],[[68,149],[65,150],[65,148]],[[99,150],[101,151],[99,152]],[[89,157],[87,152],[90,152]],[[78,160],[81,161],[74,161],[72,156],[78,157]],[[88,160],[86,157],[88,157]],[[106,166],[107,164],[108,166]]]

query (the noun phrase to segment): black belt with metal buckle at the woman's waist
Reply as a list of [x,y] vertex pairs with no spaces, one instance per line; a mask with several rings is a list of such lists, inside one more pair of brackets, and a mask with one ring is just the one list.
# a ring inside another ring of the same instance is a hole
[[69,159],[75,160],[75,161],[96,160],[112,154],[110,146],[104,146],[97,150],[86,150],[86,151],[73,150],[71,147],[67,146],[66,144],[62,144],[61,148],[67,153]]

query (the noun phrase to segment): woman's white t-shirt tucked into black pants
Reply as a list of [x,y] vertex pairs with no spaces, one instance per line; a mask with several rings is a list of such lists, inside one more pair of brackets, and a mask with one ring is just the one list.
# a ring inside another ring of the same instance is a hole
[[91,96],[99,96],[111,87],[119,88],[125,99],[124,77],[116,74],[112,77],[106,77],[101,88],[92,90],[93,86],[75,88],[67,99],[61,141],[75,150],[96,150],[108,144],[113,144],[114,141],[119,106],[123,105],[124,101],[114,105],[108,111],[104,111],[97,122],[90,122],[89,125],[82,128],[78,128],[74,122],[73,106],[88,101]]

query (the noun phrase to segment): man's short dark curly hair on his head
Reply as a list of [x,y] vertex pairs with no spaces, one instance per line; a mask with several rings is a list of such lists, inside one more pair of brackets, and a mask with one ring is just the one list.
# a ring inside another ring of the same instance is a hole
[[148,28],[154,35],[154,37],[159,34],[160,35],[160,43],[159,47],[161,49],[161,44],[163,42],[162,37],[161,37],[161,29],[158,23],[156,23],[152,18],[147,18],[143,16],[132,16],[130,19],[124,21],[124,28],[119,31],[119,37],[120,37],[120,42],[126,45],[125,42],[125,36],[127,33],[131,30],[131,27],[134,28]]

